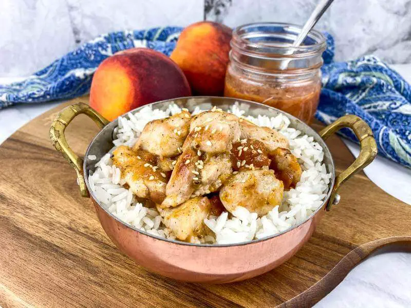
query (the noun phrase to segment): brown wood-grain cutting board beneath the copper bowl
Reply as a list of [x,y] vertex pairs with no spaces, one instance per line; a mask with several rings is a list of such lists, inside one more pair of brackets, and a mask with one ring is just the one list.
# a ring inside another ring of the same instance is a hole
[[[343,185],[340,204],[309,242],[265,275],[207,285],[149,273],[108,239],[74,169],[50,144],[58,111],[87,99],[40,115],[0,146],[0,306],[311,306],[375,249],[411,250],[411,206],[361,172]],[[81,115],[66,136],[83,154],[97,131]],[[354,158],[339,137],[327,143],[341,172]]]

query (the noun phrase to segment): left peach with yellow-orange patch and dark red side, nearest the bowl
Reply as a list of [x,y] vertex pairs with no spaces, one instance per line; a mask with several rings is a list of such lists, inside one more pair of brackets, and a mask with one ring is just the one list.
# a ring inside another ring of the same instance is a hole
[[90,106],[112,121],[139,106],[190,96],[181,69],[161,52],[134,48],[105,59],[90,89]]

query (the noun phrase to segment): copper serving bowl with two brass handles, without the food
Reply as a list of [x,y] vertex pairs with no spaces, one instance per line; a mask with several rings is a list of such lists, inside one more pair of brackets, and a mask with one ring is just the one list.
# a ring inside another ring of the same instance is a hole
[[[340,196],[337,192],[340,185],[355,172],[368,165],[377,154],[377,145],[371,129],[356,115],[345,115],[317,133],[284,111],[250,101],[218,97],[191,97],[167,100],[151,105],[153,108],[165,110],[171,102],[180,107],[188,108],[190,111],[193,111],[196,106],[201,109],[210,109],[214,105],[228,110],[234,102],[239,102],[240,107],[247,110],[246,114],[254,117],[259,114],[275,117],[278,113],[284,113],[290,119],[291,127],[312,136],[323,147],[323,162],[327,172],[332,174],[327,197],[322,206],[305,221],[284,232],[240,244],[191,244],[167,240],[150,235],[120,221],[100,204],[88,186],[88,173],[89,170],[94,170],[96,161],[90,161],[87,157],[92,154],[96,155],[99,160],[113,147],[113,130],[117,126],[117,120],[108,122],[97,111],[83,103],[63,109],[50,128],[50,139],[55,148],[61,151],[76,169],[81,194],[83,197],[91,197],[106,234],[122,252],[138,264],[152,272],[173,279],[189,282],[226,283],[248,279],[281,265],[310,238],[326,210],[329,210],[332,204],[339,202]],[[87,114],[101,127],[101,131],[88,146],[84,162],[83,159],[74,154],[64,137],[65,128],[80,113]],[[343,127],[349,127],[356,133],[361,143],[361,151],[352,165],[335,177],[334,162],[324,140]]]

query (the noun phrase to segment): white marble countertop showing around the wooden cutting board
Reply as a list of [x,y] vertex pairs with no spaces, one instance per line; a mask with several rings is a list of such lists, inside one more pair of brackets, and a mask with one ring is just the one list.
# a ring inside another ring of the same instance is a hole
[[[393,68],[402,74],[405,80],[411,82],[411,64],[393,65]],[[4,79],[2,81],[7,82]],[[0,144],[19,127],[59,104],[60,102],[17,105],[0,110]],[[351,143],[348,146],[353,154],[357,155],[356,145]],[[411,206],[409,191],[396,189],[408,176],[411,179],[411,171],[398,167],[397,164],[393,165],[390,166],[384,159],[379,159],[368,166],[365,172],[388,194]],[[391,174],[390,181],[379,179],[378,175],[381,174],[381,170],[384,170],[384,174]],[[315,307],[411,307],[410,286],[411,253],[376,253],[352,269],[343,282]]]

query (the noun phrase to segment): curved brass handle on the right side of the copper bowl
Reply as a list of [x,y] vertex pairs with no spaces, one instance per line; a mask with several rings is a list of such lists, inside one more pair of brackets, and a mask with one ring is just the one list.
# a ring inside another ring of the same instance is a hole
[[327,204],[327,211],[331,209],[334,203],[337,192],[342,184],[345,183],[352,175],[361,171],[366,166],[368,166],[377,155],[377,143],[372,134],[371,128],[357,115],[348,114],[335,120],[327,127],[323,128],[319,134],[321,138],[326,140],[334,132],[340,130],[341,128],[348,127],[351,128],[356,134],[358,140],[360,141],[361,149],[358,158],[340,175],[335,178],[335,184],[332,188],[331,197]]

